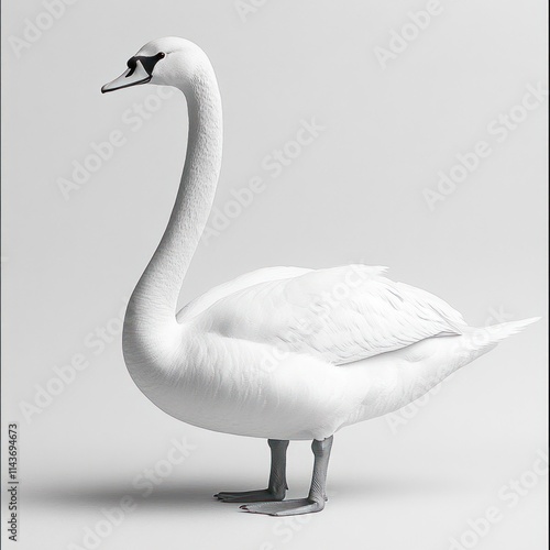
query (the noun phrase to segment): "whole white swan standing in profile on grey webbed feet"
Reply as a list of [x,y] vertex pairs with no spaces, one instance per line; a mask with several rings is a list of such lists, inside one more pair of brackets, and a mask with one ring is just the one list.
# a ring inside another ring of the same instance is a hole
[[[219,493],[248,512],[324,507],[332,435],[396,410],[536,319],[474,329],[443,300],[382,267],[273,267],[220,285],[176,315],[213,201],[221,101],[206,54],[183,38],[143,46],[103,92],[152,82],[185,94],[189,135],[168,226],[124,319],[124,359],[167,414],[209,430],[267,438],[267,490]],[[288,440],[314,440],[309,496],[285,501]]]

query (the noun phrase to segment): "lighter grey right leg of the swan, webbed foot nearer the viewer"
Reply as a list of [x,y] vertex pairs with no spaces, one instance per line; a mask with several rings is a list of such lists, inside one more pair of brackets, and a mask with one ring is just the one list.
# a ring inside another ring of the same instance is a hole
[[252,514],[267,514],[268,516],[296,516],[299,514],[311,514],[321,512],[327,501],[327,470],[329,468],[330,449],[333,436],[322,441],[314,440],[311,450],[315,455],[314,475],[311,488],[307,498],[296,498],[284,502],[264,502],[241,506],[245,512]]

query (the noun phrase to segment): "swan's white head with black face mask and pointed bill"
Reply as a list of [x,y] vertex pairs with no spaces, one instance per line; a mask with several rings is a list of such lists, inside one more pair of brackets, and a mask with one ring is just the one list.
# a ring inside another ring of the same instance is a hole
[[205,65],[205,61],[207,57],[202,50],[188,40],[175,36],[156,38],[130,57],[127,70],[106,84],[101,91],[106,94],[147,82],[182,89]]

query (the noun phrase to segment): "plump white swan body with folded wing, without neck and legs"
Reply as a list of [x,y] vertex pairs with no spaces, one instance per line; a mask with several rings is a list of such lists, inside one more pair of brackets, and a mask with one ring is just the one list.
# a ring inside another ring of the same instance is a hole
[[[361,286],[324,304],[322,290],[351,274]],[[177,320],[175,363],[131,370],[143,393],[188,424],[284,440],[322,440],[396,410],[505,330],[470,329],[439,298],[362,265],[261,270],[210,290]]]

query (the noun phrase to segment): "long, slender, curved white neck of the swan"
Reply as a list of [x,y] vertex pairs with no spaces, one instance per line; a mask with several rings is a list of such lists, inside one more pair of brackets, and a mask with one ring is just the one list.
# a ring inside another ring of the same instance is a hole
[[189,133],[184,172],[164,235],[130,299],[127,336],[174,324],[185,275],[205,229],[221,167],[222,114],[216,75],[202,64],[179,87],[187,99]]

